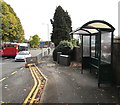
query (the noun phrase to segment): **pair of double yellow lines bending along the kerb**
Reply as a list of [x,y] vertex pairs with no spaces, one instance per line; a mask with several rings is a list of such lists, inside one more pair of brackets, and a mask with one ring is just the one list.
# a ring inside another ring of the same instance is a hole
[[42,81],[43,80],[46,81],[44,76],[39,72],[38,68],[35,65],[30,66],[29,69],[34,79],[34,86],[30,91],[29,95],[27,96],[27,98],[25,99],[23,105],[26,105],[26,104],[32,105],[33,103],[35,103],[36,98],[40,98],[40,97],[37,97],[37,94],[39,93],[40,87],[43,84]]

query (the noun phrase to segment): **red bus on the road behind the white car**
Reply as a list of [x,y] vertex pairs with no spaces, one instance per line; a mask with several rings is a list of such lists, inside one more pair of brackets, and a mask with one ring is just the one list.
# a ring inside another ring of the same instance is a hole
[[19,52],[18,44],[4,44],[2,56],[15,57],[18,52]]

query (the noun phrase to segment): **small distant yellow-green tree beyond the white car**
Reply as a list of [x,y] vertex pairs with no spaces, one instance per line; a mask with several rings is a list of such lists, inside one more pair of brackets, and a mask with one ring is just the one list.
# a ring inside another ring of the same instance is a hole
[[30,41],[30,46],[33,48],[37,48],[40,44],[40,37],[36,34],[32,36],[32,39]]

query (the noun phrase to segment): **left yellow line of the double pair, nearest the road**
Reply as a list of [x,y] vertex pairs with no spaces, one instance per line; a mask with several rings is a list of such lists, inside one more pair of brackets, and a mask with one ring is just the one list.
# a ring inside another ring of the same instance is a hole
[[34,92],[35,88],[37,87],[37,80],[36,80],[36,77],[35,77],[34,74],[33,74],[33,71],[32,71],[32,69],[31,69],[31,67],[30,67],[30,72],[31,72],[31,74],[32,74],[32,76],[33,76],[33,79],[34,79],[34,83],[35,83],[35,84],[34,84],[32,90],[30,91],[29,95],[28,95],[27,98],[25,99],[23,105],[26,105],[26,104],[27,104],[29,98],[31,97],[32,93]]

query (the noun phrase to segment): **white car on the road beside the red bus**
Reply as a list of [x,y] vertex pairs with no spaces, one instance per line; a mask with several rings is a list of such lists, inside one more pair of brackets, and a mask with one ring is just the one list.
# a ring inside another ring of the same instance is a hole
[[15,61],[25,61],[27,57],[31,57],[31,54],[29,51],[20,51],[16,56],[15,56]]

